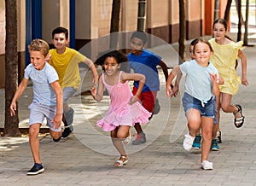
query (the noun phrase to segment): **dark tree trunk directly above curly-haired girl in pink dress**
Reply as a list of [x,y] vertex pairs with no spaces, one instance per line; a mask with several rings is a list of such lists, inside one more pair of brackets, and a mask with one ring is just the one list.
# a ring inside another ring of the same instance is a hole
[[111,14],[111,26],[110,26],[110,41],[109,48],[117,49],[118,48],[118,36],[113,32],[119,32],[119,15],[120,15],[120,0],[113,0],[112,3],[112,14]]

